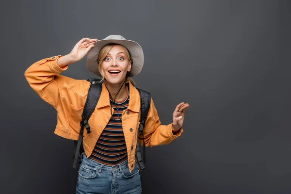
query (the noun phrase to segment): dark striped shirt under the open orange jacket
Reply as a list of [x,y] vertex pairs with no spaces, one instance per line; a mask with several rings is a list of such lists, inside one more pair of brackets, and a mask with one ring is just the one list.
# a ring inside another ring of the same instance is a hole
[[114,103],[110,99],[110,104],[114,109],[113,116],[102,131],[89,157],[105,165],[120,164],[128,159],[122,123],[120,120],[123,110],[126,110],[129,106],[129,87],[126,88],[127,93],[123,100],[115,100]]

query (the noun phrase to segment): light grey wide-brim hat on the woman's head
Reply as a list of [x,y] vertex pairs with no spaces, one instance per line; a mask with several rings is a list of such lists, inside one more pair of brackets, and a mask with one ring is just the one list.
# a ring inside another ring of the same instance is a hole
[[98,40],[94,43],[95,47],[89,50],[87,54],[87,61],[86,66],[92,73],[96,74],[99,77],[102,77],[99,70],[98,70],[98,55],[100,50],[108,45],[108,44],[119,44],[124,46],[128,49],[131,59],[132,59],[132,66],[131,70],[128,74],[129,77],[133,77],[138,75],[143,68],[144,65],[144,51],[142,47],[132,40],[126,40],[121,35],[110,35],[104,38],[103,40]]

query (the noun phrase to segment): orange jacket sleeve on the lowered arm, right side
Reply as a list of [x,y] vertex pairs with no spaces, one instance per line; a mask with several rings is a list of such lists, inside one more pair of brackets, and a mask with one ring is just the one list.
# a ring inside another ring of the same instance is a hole
[[165,145],[172,142],[183,132],[183,129],[181,128],[174,135],[172,132],[172,125],[173,123],[169,125],[161,125],[154,101],[151,98],[150,107],[146,118],[146,125],[143,130],[144,137],[142,133],[139,135],[140,144],[144,144],[143,138],[145,140],[145,145],[149,147]]

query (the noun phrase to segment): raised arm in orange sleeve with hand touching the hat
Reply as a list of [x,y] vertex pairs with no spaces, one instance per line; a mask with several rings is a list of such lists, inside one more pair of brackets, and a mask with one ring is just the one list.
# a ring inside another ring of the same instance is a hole
[[60,102],[65,76],[59,75],[70,64],[80,61],[94,46],[97,39],[82,38],[65,56],[54,56],[32,64],[24,73],[32,89],[46,102],[56,108]]

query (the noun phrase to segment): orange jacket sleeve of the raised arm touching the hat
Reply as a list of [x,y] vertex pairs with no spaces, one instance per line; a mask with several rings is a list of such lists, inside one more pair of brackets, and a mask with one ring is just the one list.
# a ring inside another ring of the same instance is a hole
[[46,102],[57,108],[65,76],[58,75],[65,69],[56,63],[61,55],[42,59],[32,64],[24,73],[32,89]]

